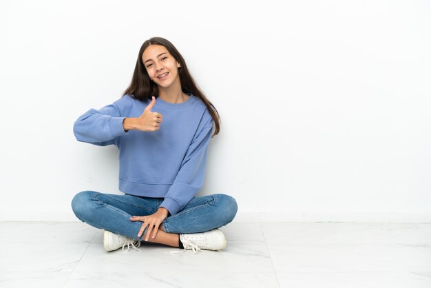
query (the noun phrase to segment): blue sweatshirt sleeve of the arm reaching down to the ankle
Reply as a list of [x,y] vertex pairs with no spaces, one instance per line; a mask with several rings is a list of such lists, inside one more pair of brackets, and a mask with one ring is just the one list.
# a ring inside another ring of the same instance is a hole
[[212,132],[213,120],[211,119],[193,139],[174,183],[169,187],[165,200],[160,204],[160,207],[168,209],[171,215],[180,212],[204,183],[208,144]]

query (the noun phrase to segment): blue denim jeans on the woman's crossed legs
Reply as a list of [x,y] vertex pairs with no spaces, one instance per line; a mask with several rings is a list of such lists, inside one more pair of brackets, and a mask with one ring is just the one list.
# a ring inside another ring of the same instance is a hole
[[[143,240],[146,229],[138,237],[143,223],[129,218],[156,213],[162,201],[163,198],[83,191],[72,199],[72,209],[79,220],[93,227]],[[161,225],[167,233],[205,232],[230,223],[237,209],[236,201],[231,196],[224,194],[198,196],[191,199],[180,212],[168,216]]]

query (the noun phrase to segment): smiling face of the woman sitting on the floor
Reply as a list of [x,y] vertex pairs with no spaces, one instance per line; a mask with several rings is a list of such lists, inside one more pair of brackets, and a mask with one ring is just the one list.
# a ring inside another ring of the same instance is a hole
[[158,86],[169,87],[179,81],[178,63],[165,46],[149,45],[143,52],[142,60],[149,78]]

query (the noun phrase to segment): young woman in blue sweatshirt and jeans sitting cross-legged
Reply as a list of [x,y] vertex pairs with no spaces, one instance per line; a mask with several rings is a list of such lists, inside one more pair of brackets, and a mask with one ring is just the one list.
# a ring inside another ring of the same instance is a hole
[[195,196],[209,141],[219,131],[217,110],[174,45],[160,37],[145,41],[124,95],[74,123],[78,141],[118,147],[119,189],[125,195],[79,192],[72,200],[74,214],[105,229],[107,251],[137,249],[141,240],[193,253],[223,249],[226,239],[217,228],[235,217],[235,199]]

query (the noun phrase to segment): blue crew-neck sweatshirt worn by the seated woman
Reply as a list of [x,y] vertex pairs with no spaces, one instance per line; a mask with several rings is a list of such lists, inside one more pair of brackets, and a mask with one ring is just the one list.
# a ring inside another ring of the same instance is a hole
[[74,135],[81,142],[116,145],[120,151],[120,191],[164,198],[160,207],[174,215],[203,185],[213,119],[193,94],[182,103],[156,98],[151,111],[163,116],[160,130],[125,132],[123,120],[139,117],[149,103],[126,94],[100,110],[90,109],[75,121]]

